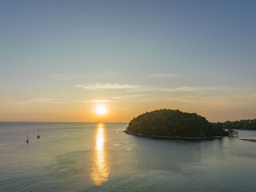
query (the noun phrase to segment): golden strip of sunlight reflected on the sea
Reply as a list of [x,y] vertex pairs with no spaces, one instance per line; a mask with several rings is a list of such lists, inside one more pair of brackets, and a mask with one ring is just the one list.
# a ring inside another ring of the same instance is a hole
[[91,179],[96,185],[106,182],[110,174],[110,166],[107,162],[108,154],[105,146],[105,127],[98,124],[93,154],[93,166]]

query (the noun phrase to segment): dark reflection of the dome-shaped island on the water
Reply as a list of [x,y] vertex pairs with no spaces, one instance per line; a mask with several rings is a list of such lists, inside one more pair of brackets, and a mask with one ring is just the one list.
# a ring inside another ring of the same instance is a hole
[[[133,135],[129,135],[134,137]],[[222,150],[222,138],[214,140],[166,140],[134,137],[135,170],[162,170],[166,173],[197,174],[214,150]]]

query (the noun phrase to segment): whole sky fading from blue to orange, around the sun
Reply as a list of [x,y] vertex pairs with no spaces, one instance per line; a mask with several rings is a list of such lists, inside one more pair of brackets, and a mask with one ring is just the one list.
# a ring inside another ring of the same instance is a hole
[[[0,1],[0,121],[256,118],[256,1]],[[102,103],[108,113],[98,115]]]

